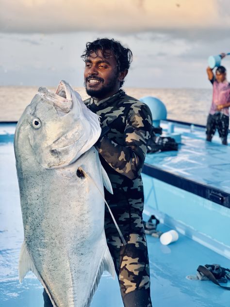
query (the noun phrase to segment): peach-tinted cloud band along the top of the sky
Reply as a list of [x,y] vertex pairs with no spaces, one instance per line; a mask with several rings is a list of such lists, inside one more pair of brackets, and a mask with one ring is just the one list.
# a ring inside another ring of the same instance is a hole
[[0,31],[144,31],[229,29],[229,0],[0,0]]

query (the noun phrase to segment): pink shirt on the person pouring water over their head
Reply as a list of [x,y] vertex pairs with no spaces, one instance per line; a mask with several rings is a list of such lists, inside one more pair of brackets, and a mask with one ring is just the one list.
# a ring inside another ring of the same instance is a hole
[[[212,81],[211,81],[212,82]],[[220,82],[214,80],[213,82],[213,101],[211,105],[211,109],[209,111],[210,114],[214,115],[216,112],[224,113],[229,116],[229,108],[223,108],[220,111],[216,110],[216,106],[219,104],[226,104],[230,102],[230,84],[228,81]]]

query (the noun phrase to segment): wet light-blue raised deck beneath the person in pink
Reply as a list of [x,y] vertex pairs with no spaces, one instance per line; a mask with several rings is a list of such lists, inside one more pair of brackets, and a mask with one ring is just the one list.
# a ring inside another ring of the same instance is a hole
[[[161,126],[167,133],[167,123]],[[221,144],[217,133],[210,143],[203,127],[191,132],[190,126],[177,123],[174,134],[181,134],[179,150],[148,154],[145,163],[230,194],[230,137],[228,146]]]

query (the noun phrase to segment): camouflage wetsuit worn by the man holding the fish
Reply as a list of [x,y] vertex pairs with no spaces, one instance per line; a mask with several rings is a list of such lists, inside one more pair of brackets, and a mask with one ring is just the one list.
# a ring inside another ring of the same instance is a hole
[[116,222],[127,241],[123,246],[110,213],[105,209],[105,233],[125,307],[151,307],[149,263],[142,222],[144,205],[141,171],[152,129],[147,105],[119,90],[114,96],[85,101],[100,116],[101,126],[109,132],[95,147],[108,173],[114,195],[105,190]]

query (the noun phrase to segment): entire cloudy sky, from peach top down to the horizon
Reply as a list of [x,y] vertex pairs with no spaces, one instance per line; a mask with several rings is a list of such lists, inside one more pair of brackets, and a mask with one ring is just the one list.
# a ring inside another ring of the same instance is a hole
[[[81,54],[98,37],[131,49],[127,87],[210,88],[208,57],[230,52],[229,0],[0,0],[0,8],[0,85],[82,86]],[[221,64],[230,70],[230,56]]]

